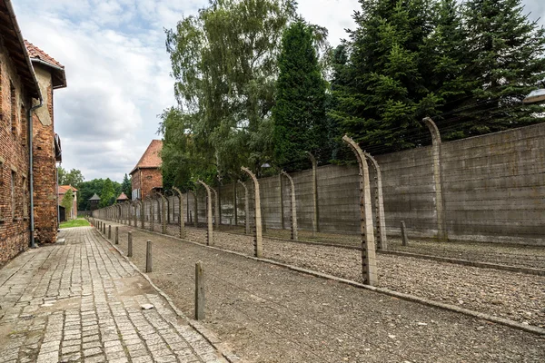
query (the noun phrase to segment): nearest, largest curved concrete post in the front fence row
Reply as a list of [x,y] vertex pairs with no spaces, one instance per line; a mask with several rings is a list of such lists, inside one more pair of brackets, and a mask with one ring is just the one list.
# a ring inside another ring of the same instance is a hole
[[344,135],[342,141],[348,143],[358,159],[360,166],[360,231],[362,233],[362,277],[363,283],[376,286],[379,282],[375,258],[374,233],[372,231],[371,184],[369,169],[362,148],[350,137]]

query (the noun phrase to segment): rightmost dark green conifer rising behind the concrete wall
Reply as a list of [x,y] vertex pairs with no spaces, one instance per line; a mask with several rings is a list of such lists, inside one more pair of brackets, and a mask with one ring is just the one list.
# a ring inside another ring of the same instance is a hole
[[468,120],[456,137],[498,132],[543,121],[543,108],[521,100],[545,78],[545,30],[523,13],[520,0],[468,0],[468,74],[473,79]]

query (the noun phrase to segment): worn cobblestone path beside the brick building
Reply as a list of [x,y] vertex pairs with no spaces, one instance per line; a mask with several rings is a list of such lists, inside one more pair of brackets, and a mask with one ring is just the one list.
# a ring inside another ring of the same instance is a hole
[[62,233],[0,270],[0,362],[225,361],[98,232]]

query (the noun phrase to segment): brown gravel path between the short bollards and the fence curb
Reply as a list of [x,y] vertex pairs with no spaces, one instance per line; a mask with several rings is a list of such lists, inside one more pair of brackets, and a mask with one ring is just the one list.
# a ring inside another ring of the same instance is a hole
[[[130,230],[128,227],[120,230],[120,247],[126,250],[126,232]],[[192,233],[201,232],[191,231],[190,237]],[[221,237],[240,244],[241,250],[252,246],[248,240],[229,234],[218,233],[218,237],[217,245],[221,247],[227,243],[222,242]],[[203,261],[205,325],[248,361],[532,362],[545,359],[545,339],[520,330],[144,231],[133,230],[133,238],[132,260],[143,270],[145,240],[153,240],[154,272],[149,275],[190,316],[193,315],[194,263]],[[273,255],[271,240],[266,240],[265,250],[268,257]],[[304,251],[306,255],[310,253]],[[331,260],[339,258],[332,253]],[[350,269],[350,265],[343,266],[343,270]],[[386,279],[381,276],[381,280]]]

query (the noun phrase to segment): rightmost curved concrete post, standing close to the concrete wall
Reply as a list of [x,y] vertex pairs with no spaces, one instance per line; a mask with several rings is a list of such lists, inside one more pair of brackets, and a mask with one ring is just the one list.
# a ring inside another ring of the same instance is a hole
[[445,200],[442,193],[441,178],[441,134],[437,125],[426,117],[422,120],[428,126],[431,132],[431,152],[433,154],[433,182],[435,184],[435,209],[437,210],[437,238],[438,240],[448,240],[447,221],[445,217]]

